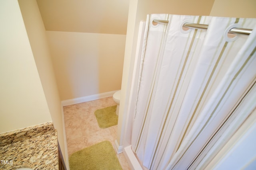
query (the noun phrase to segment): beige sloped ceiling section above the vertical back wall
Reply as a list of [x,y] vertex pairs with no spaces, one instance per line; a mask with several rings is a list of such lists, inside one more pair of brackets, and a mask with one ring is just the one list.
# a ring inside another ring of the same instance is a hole
[[46,31],[126,34],[129,0],[37,0]]

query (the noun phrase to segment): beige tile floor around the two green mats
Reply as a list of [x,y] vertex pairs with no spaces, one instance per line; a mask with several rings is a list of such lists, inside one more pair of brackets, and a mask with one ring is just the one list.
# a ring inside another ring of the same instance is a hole
[[[65,106],[64,120],[68,145],[68,156],[78,150],[84,149],[101,141],[108,140],[114,145],[116,140],[117,125],[101,129],[98,127],[94,111],[116,103],[112,99],[103,98],[90,102]],[[130,170],[124,154],[117,154],[119,162],[124,170]]]

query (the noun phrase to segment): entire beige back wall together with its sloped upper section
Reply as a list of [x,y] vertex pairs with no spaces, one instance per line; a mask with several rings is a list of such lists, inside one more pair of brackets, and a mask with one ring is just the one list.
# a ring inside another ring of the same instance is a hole
[[119,90],[129,0],[36,0],[61,100]]

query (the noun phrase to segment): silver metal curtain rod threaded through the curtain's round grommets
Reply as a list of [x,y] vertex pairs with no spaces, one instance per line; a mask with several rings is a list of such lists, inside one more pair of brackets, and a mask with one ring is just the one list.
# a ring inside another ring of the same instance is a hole
[[[153,22],[156,23],[169,23],[167,20],[153,20]],[[200,23],[184,23],[183,27],[188,28],[198,28],[198,29],[208,29],[208,25],[200,24]],[[232,34],[242,34],[242,35],[250,35],[252,33],[252,29],[246,29],[246,28],[232,28],[228,33]]]

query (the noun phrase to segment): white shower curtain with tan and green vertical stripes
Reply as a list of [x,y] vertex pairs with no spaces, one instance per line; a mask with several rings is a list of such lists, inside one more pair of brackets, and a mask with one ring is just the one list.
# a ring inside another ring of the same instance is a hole
[[[183,29],[187,22],[209,26]],[[147,16],[130,109],[132,150],[146,168],[204,168],[255,111],[255,26],[252,18]],[[233,27],[254,30],[229,34]]]

